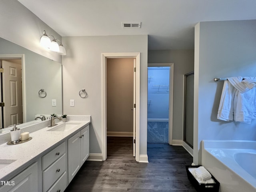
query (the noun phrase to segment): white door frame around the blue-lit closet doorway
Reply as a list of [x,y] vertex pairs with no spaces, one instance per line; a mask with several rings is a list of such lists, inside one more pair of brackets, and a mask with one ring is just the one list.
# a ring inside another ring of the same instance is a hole
[[172,145],[173,130],[173,87],[174,87],[174,63],[148,63],[148,67],[170,67],[169,79],[169,144]]

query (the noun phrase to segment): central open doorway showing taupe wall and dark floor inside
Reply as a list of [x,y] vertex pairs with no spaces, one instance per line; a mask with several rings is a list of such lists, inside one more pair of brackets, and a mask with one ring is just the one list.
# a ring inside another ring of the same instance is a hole
[[[133,77],[134,58],[107,58],[107,158],[121,151],[133,156]],[[113,145],[117,141],[123,144]]]

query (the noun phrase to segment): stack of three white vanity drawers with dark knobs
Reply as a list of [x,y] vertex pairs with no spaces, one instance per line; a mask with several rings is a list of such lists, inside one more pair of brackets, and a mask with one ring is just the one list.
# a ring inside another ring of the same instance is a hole
[[61,191],[66,184],[66,142],[42,156],[43,192]]

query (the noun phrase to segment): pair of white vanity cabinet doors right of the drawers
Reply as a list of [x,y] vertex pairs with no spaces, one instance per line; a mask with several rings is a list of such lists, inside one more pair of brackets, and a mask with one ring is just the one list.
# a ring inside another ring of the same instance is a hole
[[89,125],[68,139],[68,183],[89,156]]

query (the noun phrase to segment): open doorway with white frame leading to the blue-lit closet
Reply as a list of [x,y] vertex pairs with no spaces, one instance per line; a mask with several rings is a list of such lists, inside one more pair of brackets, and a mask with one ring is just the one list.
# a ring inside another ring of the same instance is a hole
[[148,64],[148,143],[172,144],[173,64]]

